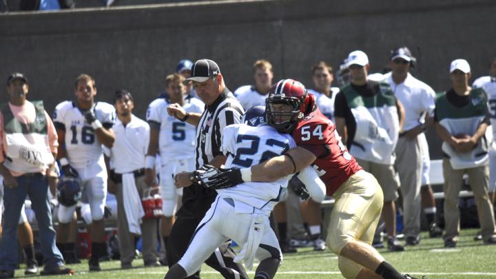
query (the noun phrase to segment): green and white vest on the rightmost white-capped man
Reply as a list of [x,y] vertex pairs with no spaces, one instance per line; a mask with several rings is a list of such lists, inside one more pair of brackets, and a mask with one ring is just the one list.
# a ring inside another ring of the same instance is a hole
[[[452,135],[473,135],[477,127],[486,120],[488,114],[486,92],[482,88],[474,88],[469,98],[470,101],[464,107],[455,107],[448,101],[446,92],[436,96],[436,119]],[[471,152],[456,152],[446,142],[442,143],[442,151],[450,158],[453,169],[467,169],[488,163],[488,143],[485,136],[479,138],[477,146]]]

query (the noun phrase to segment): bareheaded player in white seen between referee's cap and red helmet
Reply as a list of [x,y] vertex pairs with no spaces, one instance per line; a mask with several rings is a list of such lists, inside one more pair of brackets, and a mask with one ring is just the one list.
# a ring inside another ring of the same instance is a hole
[[256,105],[264,105],[272,86],[272,64],[264,59],[254,63],[255,85],[243,85],[234,91],[234,96],[241,103],[243,110]]

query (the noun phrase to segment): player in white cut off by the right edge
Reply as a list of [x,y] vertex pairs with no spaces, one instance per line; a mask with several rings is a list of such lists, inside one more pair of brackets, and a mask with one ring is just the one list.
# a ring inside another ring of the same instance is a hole
[[[496,188],[496,58],[489,65],[489,75],[481,76],[473,82],[472,87],[479,87],[486,91],[488,96],[488,107],[490,113],[490,123],[493,128],[493,144],[489,149],[489,197],[495,203]],[[488,127],[489,128],[489,127]],[[489,130],[489,129],[488,129]],[[495,204],[496,205],[496,204]]]

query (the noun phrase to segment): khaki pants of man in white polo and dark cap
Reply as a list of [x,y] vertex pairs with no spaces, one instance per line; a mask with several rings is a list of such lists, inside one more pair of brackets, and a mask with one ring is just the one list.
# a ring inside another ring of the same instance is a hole
[[420,234],[422,197],[422,149],[417,138],[401,137],[396,145],[395,168],[400,176],[403,196],[403,234],[417,237]]

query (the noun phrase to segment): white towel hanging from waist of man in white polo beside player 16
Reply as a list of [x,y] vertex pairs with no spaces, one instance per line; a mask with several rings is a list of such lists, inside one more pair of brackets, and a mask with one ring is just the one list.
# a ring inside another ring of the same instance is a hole
[[145,216],[145,211],[132,172],[123,174],[123,203],[130,232],[141,234],[141,218]]

